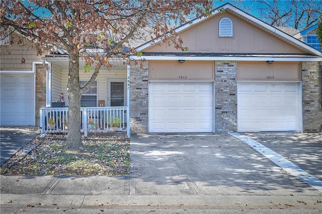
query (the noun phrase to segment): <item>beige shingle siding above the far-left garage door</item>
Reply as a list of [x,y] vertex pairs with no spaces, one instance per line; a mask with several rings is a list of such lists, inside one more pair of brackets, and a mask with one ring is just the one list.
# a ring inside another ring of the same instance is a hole
[[[32,43],[28,40],[24,40],[21,45],[2,45],[0,48],[0,69],[31,71],[32,62],[41,62],[41,56],[37,56],[36,50],[32,49],[31,45]],[[24,64],[22,64],[22,58],[25,59]]]

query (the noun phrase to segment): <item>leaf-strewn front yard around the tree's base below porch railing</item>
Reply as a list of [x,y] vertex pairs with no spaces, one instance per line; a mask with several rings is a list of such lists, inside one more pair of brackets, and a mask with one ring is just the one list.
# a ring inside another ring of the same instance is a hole
[[84,152],[65,150],[65,141],[40,136],[1,166],[10,175],[122,175],[129,173],[128,141],[83,139]]

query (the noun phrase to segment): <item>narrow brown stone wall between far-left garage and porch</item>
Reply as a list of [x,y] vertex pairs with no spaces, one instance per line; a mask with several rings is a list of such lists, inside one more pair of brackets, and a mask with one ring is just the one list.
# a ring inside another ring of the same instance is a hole
[[39,112],[43,107],[46,107],[46,69],[36,64],[36,126],[39,126]]

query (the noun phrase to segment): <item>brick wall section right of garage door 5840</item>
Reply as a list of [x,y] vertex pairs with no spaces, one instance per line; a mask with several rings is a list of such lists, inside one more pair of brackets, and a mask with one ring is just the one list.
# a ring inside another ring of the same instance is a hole
[[302,62],[303,131],[319,132],[322,124],[321,71],[318,62]]

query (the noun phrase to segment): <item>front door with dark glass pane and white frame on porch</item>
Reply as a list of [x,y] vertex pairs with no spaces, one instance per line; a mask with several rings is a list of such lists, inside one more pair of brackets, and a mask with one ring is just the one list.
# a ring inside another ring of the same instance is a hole
[[126,97],[126,79],[107,80],[107,106],[126,106]]

